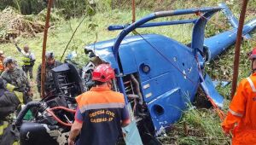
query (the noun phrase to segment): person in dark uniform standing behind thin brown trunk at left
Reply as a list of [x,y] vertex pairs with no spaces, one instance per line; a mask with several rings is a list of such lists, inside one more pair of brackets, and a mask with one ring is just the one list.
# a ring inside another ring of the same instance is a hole
[[[52,70],[54,67],[60,66],[62,63],[60,61],[55,60],[55,55],[53,52],[46,52],[45,54],[46,65],[45,65],[45,82],[44,82],[44,91],[45,95],[50,95],[50,93],[54,90],[54,80],[52,76]],[[38,92],[41,92],[41,69],[42,64],[38,67],[37,74],[37,86]]]

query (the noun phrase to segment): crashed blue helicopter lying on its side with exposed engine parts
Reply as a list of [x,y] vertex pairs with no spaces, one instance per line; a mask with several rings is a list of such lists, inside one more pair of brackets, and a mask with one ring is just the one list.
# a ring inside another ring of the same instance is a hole
[[[204,38],[205,26],[213,14],[222,10],[234,29]],[[197,14],[199,18],[148,22],[161,17]],[[191,44],[185,45],[159,34],[127,36],[137,28],[194,24]],[[224,98],[215,90],[211,78],[204,72],[207,61],[220,55],[236,42],[237,20],[224,3],[218,7],[178,9],[148,14],[131,25],[109,26],[109,31],[122,30],[115,39],[85,46],[92,61],[79,71],[72,63],[55,67],[55,95],[40,102],[29,102],[15,121],[20,131],[20,144],[66,144],[74,119],[74,97],[93,85],[91,72],[99,63],[109,63],[115,70],[113,90],[125,95],[129,106],[131,125],[125,127],[126,144],[159,143],[156,136],[170,130],[180,119],[186,102],[193,102],[198,88],[218,107]],[[250,38],[256,26],[251,20],[243,27]],[[184,57],[185,56],[185,57]],[[37,113],[31,120],[23,120],[32,107]]]

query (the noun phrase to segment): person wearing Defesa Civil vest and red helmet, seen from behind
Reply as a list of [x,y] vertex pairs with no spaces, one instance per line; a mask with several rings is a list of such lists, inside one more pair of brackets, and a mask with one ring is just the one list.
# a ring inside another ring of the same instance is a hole
[[78,103],[68,144],[113,145],[121,135],[121,127],[130,124],[123,94],[110,90],[115,78],[113,68],[99,65],[92,73],[96,87],[76,97]]

